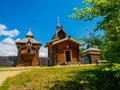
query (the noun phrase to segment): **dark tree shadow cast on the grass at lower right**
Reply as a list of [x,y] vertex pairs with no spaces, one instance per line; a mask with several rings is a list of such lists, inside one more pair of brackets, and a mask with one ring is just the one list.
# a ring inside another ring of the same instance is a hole
[[56,80],[49,90],[120,90],[114,73],[96,70],[72,71],[69,80]]

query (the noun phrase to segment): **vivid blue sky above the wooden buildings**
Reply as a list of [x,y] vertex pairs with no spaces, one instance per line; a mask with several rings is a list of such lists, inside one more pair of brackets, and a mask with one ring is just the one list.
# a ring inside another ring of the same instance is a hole
[[74,7],[83,8],[85,5],[82,0],[0,0],[0,25],[6,33],[0,32],[0,52],[4,52],[0,55],[6,54],[3,45],[15,46],[13,42],[24,38],[29,27],[44,47],[56,32],[57,17],[72,38],[87,36],[86,29],[93,30],[98,19],[92,22],[71,19],[68,16],[74,13]]

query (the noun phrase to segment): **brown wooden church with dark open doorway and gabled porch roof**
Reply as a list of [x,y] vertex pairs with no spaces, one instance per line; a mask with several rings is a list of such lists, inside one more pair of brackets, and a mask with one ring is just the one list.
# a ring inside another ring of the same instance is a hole
[[62,26],[57,24],[57,31],[48,47],[48,65],[64,65],[80,61],[79,46],[81,43],[67,36]]

